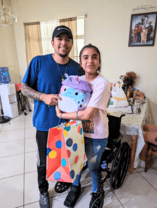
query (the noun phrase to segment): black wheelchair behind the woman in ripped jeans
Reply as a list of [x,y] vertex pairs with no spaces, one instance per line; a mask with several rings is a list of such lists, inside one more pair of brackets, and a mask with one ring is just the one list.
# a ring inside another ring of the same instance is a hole
[[[101,179],[103,183],[110,178],[110,186],[112,189],[118,189],[124,182],[128,166],[130,162],[131,149],[127,142],[122,143],[123,136],[120,133],[121,118],[125,116],[122,114],[120,117],[108,115],[109,119],[109,137],[108,144],[105,151],[102,154],[100,171],[106,172],[106,176]],[[108,164],[112,163],[111,169],[108,168]],[[87,164],[83,167],[83,170],[87,168]],[[62,193],[71,186],[71,183],[57,182],[55,185],[55,191]],[[93,208],[97,208],[97,203]]]

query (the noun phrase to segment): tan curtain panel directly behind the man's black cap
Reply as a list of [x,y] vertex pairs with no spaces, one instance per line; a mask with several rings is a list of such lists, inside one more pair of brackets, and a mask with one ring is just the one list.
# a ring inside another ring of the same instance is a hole
[[77,18],[67,18],[67,19],[60,19],[60,25],[65,25],[69,27],[73,34],[73,47],[69,54],[70,58],[78,61],[78,49],[77,49]]

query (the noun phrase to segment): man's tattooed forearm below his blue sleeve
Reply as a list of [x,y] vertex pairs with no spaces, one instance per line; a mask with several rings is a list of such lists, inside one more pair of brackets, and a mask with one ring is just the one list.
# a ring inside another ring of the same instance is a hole
[[22,83],[21,90],[22,90],[22,94],[24,94],[25,96],[30,97],[34,100],[40,100],[40,96],[42,93],[35,91],[28,85]]

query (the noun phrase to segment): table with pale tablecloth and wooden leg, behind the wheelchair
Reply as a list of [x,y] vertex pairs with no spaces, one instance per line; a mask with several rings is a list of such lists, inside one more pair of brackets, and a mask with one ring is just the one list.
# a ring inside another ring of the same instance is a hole
[[[111,113],[111,110],[108,110]],[[111,113],[116,115],[116,112]],[[140,114],[125,114],[121,120],[120,132],[122,135],[131,135],[131,158],[129,165],[129,173],[132,174],[134,168],[138,166],[139,154],[145,145],[143,137],[143,124],[147,118],[147,101],[145,104],[141,105]]]

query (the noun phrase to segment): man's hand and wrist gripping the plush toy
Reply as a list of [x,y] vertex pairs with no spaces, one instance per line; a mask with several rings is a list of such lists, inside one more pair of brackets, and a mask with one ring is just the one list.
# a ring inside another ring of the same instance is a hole
[[40,100],[42,100],[47,105],[58,105],[58,100],[62,100],[57,94],[44,94],[42,93],[40,96]]

